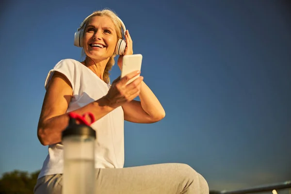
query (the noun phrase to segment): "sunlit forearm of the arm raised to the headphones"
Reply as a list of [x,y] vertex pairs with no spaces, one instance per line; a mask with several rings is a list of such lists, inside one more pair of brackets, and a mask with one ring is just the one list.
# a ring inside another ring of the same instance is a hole
[[162,119],[165,116],[162,104],[144,81],[142,81],[139,97],[143,110],[150,115],[150,117]]

